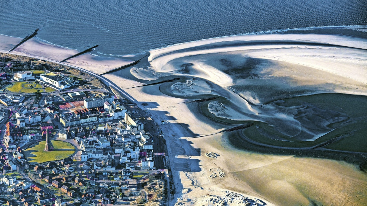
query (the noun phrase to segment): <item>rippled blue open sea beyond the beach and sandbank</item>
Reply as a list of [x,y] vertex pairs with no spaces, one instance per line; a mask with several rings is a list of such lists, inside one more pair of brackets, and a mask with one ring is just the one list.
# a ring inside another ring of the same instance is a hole
[[[145,55],[149,49],[237,34],[334,33],[366,37],[366,0],[2,0],[0,34],[37,38],[95,55]],[[317,30],[314,30],[317,28]]]

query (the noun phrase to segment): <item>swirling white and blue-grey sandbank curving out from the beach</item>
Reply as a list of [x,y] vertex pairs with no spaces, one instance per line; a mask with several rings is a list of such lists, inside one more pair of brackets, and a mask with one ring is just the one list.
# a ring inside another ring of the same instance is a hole
[[[318,34],[213,38],[150,51],[148,65],[131,68],[159,82],[172,97],[212,98],[207,112],[232,123],[258,121],[260,134],[280,141],[313,141],[350,121],[343,111],[285,99],[320,93],[367,94],[367,41]],[[216,97],[214,99],[214,97]]]

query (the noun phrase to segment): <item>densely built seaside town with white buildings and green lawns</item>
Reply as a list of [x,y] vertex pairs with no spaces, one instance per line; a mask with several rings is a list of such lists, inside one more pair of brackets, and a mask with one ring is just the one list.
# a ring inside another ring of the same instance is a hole
[[0,60],[0,203],[166,201],[163,133],[147,111],[74,68]]

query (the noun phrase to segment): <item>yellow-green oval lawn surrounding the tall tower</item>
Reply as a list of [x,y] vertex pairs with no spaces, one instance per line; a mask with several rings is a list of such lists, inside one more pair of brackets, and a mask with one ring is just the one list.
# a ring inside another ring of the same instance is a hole
[[63,141],[51,141],[53,150],[44,151],[45,143],[46,141],[38,142],[23,151],[30,164],[62,160],[70,157],[75,151],[74,146]]

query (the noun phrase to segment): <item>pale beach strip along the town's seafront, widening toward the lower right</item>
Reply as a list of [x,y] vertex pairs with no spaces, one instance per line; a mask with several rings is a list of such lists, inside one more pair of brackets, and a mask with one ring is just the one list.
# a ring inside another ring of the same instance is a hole
[[[56,61],[53,62],[56,63]],[[117,74],[116,72],[100,76],[88,71],[87,68],[65,65],[102,78],[107,86],[116,87],[118,91],[136,102],[139,108],[148,110],[157,123],[162,119],[166,120],[167,124],[162,126],[162,130],[167,140],[168,158],[174,172],[176,187],[175,196],[170,202],[172,205],[176,203],[196,205],[215,201],[218,197],[225,199],[229,194],[227,191],[260,198],[268,205],[307,204],[310,200],[319,203],[323,199],[326,204],[333,205],[356,200],[353,199],[353,195],[359,196],[359,192],[365,191],[356,191],[356,184],[365,184],[367,178],[357,171],[355,165],[318,157],[243,151],[230,145],[226,140],[228,137],[224,138],[221,134],[190,138],[196,134],[212,134],[220,131],[224,126],[222,123],[205,121],[205,117],[197,118],[193,114],[194,111],[186,104],[179,104],[186,99],[173,98],[161,93],[159,85],[123,91],[121,88],[139,86],[141,83],[123,76],[116,76],[114,75]],[[83,61],[79,65],[83,65]],[[143,106],[142,102],[148,105]],[[204,155],[208,152],[214,152],[220,156],[214,159],[208,158]],[[224,177],[211,178],[210,175],[213,172],[211,169],[224,172]],[[320,184],[316,184],[317,182]],[[339,187],[334,188],[335,184],[341,184],[349,191],[345,193]],[[315,191],[309,192],[312,190]],[[335,194],[338,194],[339,198],[335,198]],[[348,196],[343,198],[345,195]],[[318,199],[315,200],[315,197]],[[359,198],[366,201],[363,196]]]

